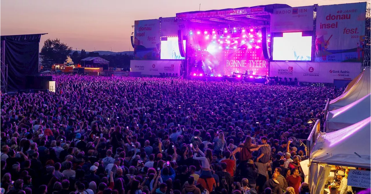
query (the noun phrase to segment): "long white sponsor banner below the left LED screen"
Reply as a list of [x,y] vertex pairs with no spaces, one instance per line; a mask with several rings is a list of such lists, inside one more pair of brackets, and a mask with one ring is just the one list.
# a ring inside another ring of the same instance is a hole
[[158,76],[160,73],[177,73],[180,75],[181,62],[181,60],[130,60],[130,72]]

